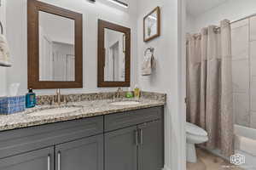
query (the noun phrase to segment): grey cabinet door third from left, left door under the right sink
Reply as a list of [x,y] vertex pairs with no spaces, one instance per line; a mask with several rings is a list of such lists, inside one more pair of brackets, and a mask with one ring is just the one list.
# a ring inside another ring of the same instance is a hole
[[137,127],[105,134],[105,170],[137,170]]

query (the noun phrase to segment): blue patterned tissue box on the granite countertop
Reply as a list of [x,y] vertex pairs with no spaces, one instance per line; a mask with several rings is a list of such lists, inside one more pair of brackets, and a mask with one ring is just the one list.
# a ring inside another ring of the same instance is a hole
[[9,115],[25,111],[25,96],[0,98],[0,114]]

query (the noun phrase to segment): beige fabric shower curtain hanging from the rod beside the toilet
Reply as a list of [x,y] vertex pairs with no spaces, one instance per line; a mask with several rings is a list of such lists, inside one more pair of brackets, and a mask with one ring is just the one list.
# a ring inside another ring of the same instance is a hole
[[234,151],[231,28],[228,20],[188,35],[187,121],[207,130],[207,148]]

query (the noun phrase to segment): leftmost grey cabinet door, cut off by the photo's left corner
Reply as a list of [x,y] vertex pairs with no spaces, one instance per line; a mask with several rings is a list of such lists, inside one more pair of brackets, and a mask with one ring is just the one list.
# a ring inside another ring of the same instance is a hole
[[54,170],[54,148],[0,159],[1,170]]

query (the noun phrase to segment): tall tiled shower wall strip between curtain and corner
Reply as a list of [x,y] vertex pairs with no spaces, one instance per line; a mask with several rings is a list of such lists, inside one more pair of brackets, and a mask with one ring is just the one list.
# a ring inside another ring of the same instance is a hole
[[249,21],[231,26],[233,54],[233,95],[236,124],[250,126]]

